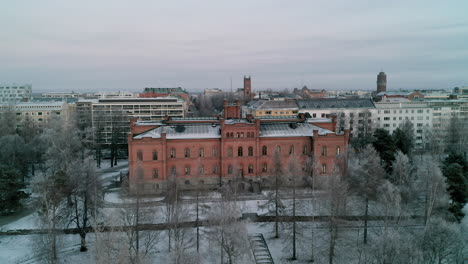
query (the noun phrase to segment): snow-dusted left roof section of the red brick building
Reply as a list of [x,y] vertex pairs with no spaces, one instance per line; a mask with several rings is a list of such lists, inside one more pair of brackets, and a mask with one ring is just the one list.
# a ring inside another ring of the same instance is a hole
[[221,138],[219,126],[215,124],[190,124],[190,125],[171,125],[162,126],[150,131],[144,132],[134,137],[142,138],[161,138],[161,134],[166,133],[167,139],[202,139],[202,138]]

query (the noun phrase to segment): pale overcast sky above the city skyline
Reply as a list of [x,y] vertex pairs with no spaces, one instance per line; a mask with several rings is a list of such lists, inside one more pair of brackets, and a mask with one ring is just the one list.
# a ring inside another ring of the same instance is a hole
[[[332,3],[333,2],[333,3]],[[468,86],[468,1],[0,3],[0,83],[33,92]]]

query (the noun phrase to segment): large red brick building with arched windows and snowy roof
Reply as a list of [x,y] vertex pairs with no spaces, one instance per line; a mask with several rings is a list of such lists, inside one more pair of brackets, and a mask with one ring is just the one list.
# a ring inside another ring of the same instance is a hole
[[131,188],[141,183],[144,192],[162,191],[170,178],[184,189],[200,183],[214,188],[235,177],[242,187],[261,186],[271,179],[275,153],[285,173],[292,160],[299,171],[313,160],[319,173],[328,175],[348,147],[349,133],[336,134],[332,119],[241,119],[237,103],[225,104],[225,110],[224,117],[132,120]]

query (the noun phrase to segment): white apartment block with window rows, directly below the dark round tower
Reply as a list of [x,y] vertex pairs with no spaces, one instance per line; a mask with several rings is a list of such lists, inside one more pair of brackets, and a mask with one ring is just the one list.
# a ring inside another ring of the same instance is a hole
[[377,127],[388,130],[390,134],[409,120],[414,127],[415,146],[424,146],[425,134],[433,127],[433,110],[425,102],[379,102],[377,109]]

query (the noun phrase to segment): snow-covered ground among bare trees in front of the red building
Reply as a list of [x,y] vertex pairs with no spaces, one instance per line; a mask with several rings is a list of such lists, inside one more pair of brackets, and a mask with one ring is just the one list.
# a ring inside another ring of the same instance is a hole
[[[205,197],[213,198],[213,201],[203,203],[204,208],[213,207],[213,204],[216,203],[216,198],[219,198],[217,193],[207,193],[204,194]],[[264,195],[266,196],[266,195]],[[184,196],[184,199],[191,199],[193,196]],[[105,200],[107,202],[113,203],[132,203],[134,198],[125,197],[120,194],[118,189],[113,189],[111,192],[106,194]],[[162,197],[145,197],[142,200],[146,202],[159,202],[162,200]],[[254,199],[246,201],[238,201],[239,207],[241,208],[242,213],[266,213],[266,209],[262,208],[261,205],[266,203],[266,199]],[[317,202],[317,201],[316,201]],[[284,203],[287,206],[290,206],[291,200],[286,199]],[[312,210],[310,199],[300,199],[298,200],[298,210],[306,210],[309,213],[311,211],[317,211],[317,214],[325,214],[327,212],[326,203],[318,203],[315,210]],[[184,207],[186,208],[188,214],[186,217],[187,221],[195,220],[195,210],[194,203],[184,202]],[[154,214],[149,220],[144,220],[145,223],[161,223],[164,222],[164,212],[165,208],[163,203],[159,205],[152,206],[152,213]],[[372,208],[372,207],[371,207]],[[148,208],[146,208],[148,209]],[[349,208],[354,214],[354,210],[359,214],[362,212],[362,208],[359,205],[356,205],[356,208]],[[105,208],[103,210],[104,215],[111,215],[119,212],[120,208]],[[209,210],[209,209],[208,209]],[[376,213],[378,211],[375,211]],[[465,206],[464,212],[468,215],[468,205]],[[206,219],[206,213],[204,213],[201,218]],[[1,226],[0,229],[4,230],[15,230],[15,229],[34,229],[38,228],[39,217],[37,213],[33,213],[22,218],[17,219],[14,222]],[[376,224],[374,222],[374,224]],[[289,226],[288,226],[289,225]],[[311,223],[298,223],[298,228],[300,228],[300,234],[298,235],[298,260],[292,262],[289,260],[291,257],[291,224],[284,224],[282,229],[284,230],[281,233],[281,238],[273,238],[273,223],[248,223],[247,228],[249,234],[262,233],[267,241],[270,252],[275,260],[275,263],[308,263],[310,260],[312,252],[316,263],[323,263],[327,259],[327,243],[329,234],[327,229],[321,229],[325,227],[325,223],[315,223],[313,226],[317,229],[314,231],[314,239],[312,239],[312,231],[310,227]],[[350,223],[353,225],[353,223]],[[462,220],[463,232],[468,231],[468,217],[465,217]],[[202,228],[204,230],[205,228]],[[193,230],[191,231],[193,232]],[[166,263],[170,258],[169,253],[167,252],[167,235],[166,231],[160,231],[159,244],[157,246],[158,250],[153,256],[155,261],[154,263]],[[371,232],[372,233],[372,232]],[[204,234],[204,232],[202,232]],[[371,235],[371,234],[370,234]],[[0,236],[0,263],[37,263],[40,259],[40,256],[37,254],[36,246],[39,241],[38,235],[16,235],[16,236]],[[338,243],[349,243],[349,241],[359,241],[362,237],[362,230],[359,229],[347,229],[342,231],[340,234],[340,240]],[[219,263],[219,255],[213,253],[213,247],[216,245],[209,244],[206,242],[208,238],[202,238],[202,248],[203,252],[201,254],[202,263]],[[60,235],[59,245],[60,245],[60,254],[59,259],[60,263],[94,263],[95,262],[95,235],[93,233],[87,236],[87,241],[89,245],[89,251],[85,253],[79,252],[79,236],[78,235]],[[204,242],[203,242],[204,241]],[[315,241],[315,244],[312,245],[311,241]],[[312,251],[313,246],[313,251]],[[339,248],[339,247],[338,247]],[[211,251],[210,251],[211,250]],[[192,249],[193,251],[193,249]],[[218,252],[218,251],[215,251]],[[348,256],[355,256],[356,252],[337,252],[337,256],[341,259],[340,263],[346,263],[346,258]],[[348,261],[352,263],[351,259]]]

